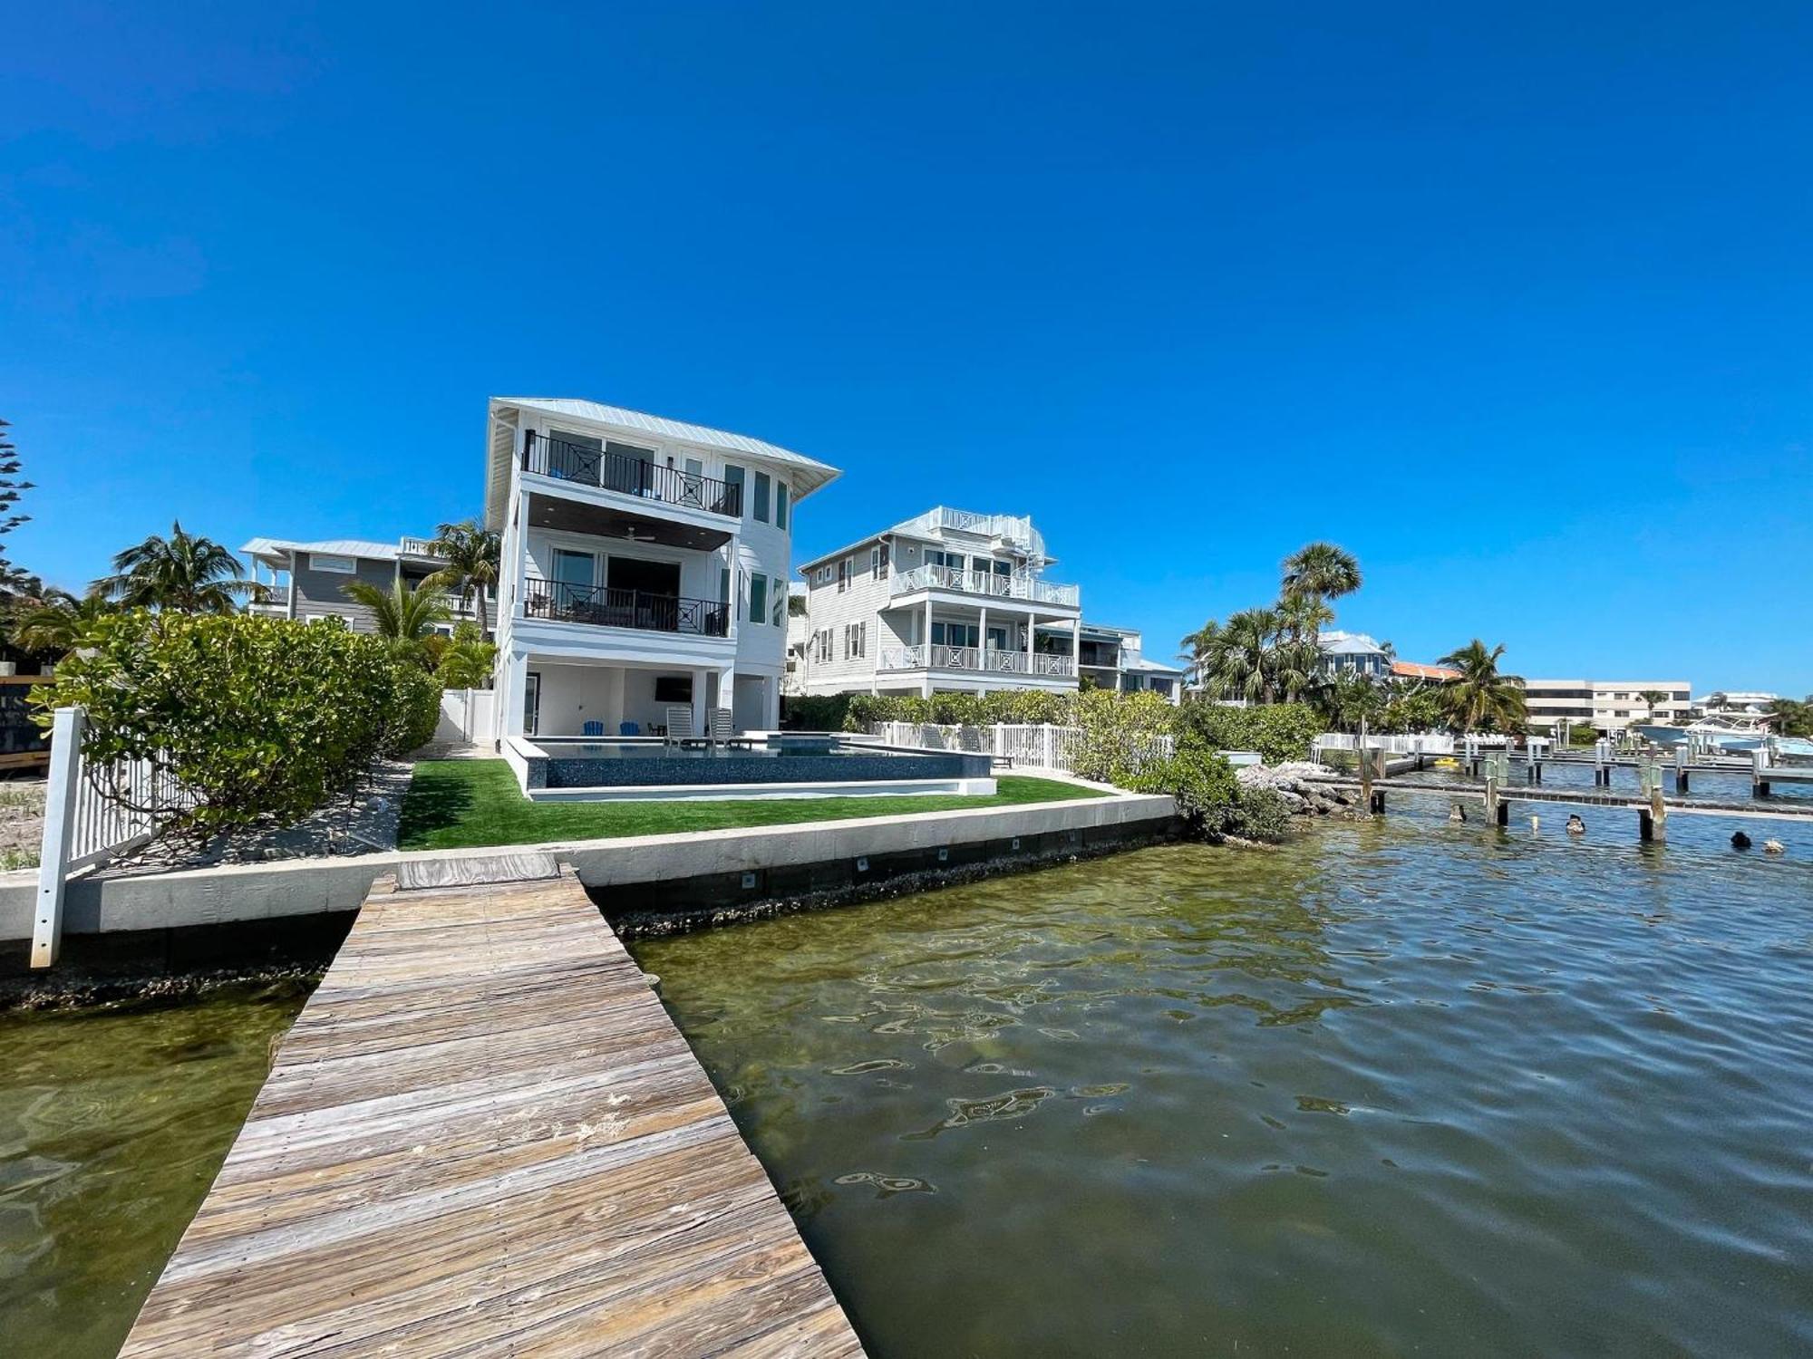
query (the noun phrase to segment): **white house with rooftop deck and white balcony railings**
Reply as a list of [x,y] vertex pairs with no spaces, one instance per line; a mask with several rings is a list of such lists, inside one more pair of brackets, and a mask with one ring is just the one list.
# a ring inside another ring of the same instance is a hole
[[1077,689],[1082,591],[1030,518],[939,506],[805,562],[805,694]]

